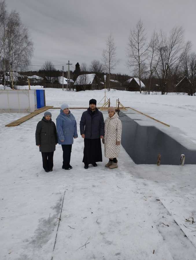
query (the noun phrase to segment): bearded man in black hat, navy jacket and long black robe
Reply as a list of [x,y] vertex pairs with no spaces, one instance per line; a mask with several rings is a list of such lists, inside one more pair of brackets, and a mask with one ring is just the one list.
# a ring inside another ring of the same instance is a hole
[[80,134],[84,138],[84,168],[88,164],[97,166],[97,161],[102,161],[101,139],[104,136],[103,114],[96,107],[97,101],[91,99],[89,108],[83,112],[80,120]]

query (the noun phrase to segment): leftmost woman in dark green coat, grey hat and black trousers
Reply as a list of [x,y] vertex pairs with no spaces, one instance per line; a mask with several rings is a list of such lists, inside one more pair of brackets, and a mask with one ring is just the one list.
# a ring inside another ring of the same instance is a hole
[[42,153],[43,168],[46,172],[51,172],[53,168],[53,155],[56,149],[57,132],[56,125],[51,120],[52,114],[45,112],[41,121],[38,122],[35,139]]

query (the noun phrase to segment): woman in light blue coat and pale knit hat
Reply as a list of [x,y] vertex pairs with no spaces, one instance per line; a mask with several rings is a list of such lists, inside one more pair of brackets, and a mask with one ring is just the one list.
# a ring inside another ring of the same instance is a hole
[[77,138],[77,124],[75,117],[69,111],[66,103],[61,105],[60,114],[56,118],[58,144],[61,144],[63,150],[63,166],[62,169],[70,170],[71,148],[73,138]]

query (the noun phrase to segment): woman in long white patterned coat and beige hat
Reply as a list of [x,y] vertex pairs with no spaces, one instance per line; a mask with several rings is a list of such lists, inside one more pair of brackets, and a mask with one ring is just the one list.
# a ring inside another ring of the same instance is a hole
[[120,153],[122,122],[115,112],[114,107],[108,108],[108,118],[105,120],[105,135],[103,139],[105,157],[109,158],[106,167],[118,167],[117,157]]

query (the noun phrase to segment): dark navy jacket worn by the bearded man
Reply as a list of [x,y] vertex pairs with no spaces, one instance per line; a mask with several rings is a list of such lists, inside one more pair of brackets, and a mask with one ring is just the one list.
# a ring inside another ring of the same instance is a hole
[[90,108],[83,112],[80,120],[80,134],[85,134],[87,139],[97,139],[104,135],[104,120],[103,114],[95,108],[95,113],[92,115]]

